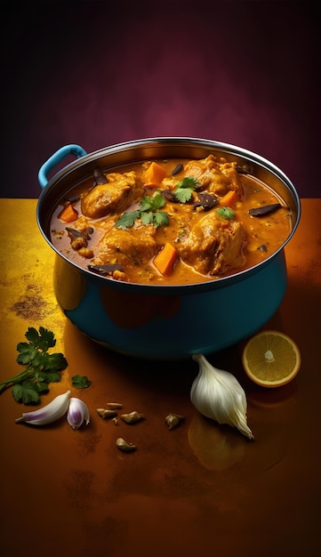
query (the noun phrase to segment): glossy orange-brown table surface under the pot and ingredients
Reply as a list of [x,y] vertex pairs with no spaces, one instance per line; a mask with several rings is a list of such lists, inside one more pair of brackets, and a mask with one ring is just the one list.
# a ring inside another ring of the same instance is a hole
[[[143,362],[84,337],[52,290],[54,253],[36,224],[36,199],[0,200],[0,380],[20,371],[16,345],[28,327],[51,329],[68,359],[42,404],[71,389],[91,411],[73,431],[15,424],[21,412],[0,395],[1,530],[4,557],[313,557],[321,553],[321,199],[302,199],[301,222],[285,246],[288,286],[265,328],[301,350],[292,383],[264,389],[241,364],[243,344],[211,355],[244,386],[255,440],[205,420],[189,400],[195,362]],[[273,288],[273,285],[271,285]],[[73,375],[92,384],[76,390]],[[102,420],[108,401],[145,419]],[[165,416],[181,425],[169,430]],[[121,453],[117,437],[135,443]]]

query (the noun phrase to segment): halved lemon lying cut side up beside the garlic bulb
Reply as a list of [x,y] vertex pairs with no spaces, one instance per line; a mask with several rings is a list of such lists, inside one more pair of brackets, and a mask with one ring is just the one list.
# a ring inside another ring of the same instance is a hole
[[281,387],[293,380],[301,366],[301,354],[290,336],[279,331],[261,331],[242,353],[245,373],[263,387]]

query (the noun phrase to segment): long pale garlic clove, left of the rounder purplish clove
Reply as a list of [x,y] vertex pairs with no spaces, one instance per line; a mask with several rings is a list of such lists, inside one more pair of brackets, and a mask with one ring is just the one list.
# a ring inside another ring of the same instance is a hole
[[16,424],[25,422],[31,425],[52,424],[64,416],[68,410],[70,391],[59,394],[49,404],[42,408],[37,408],[31,412],[24,412],[21,417],[16,419]]

